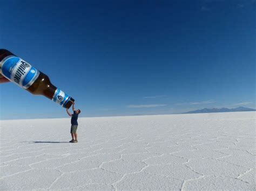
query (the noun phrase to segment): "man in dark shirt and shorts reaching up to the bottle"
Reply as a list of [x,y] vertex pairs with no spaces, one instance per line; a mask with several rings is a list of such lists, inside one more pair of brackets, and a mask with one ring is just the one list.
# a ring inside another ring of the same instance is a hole
[[74,105],[75,105],[75,103],[73,102],[73,104],[72,104],[73,114],[72,114],[72,115],[70,114],[69,110],[66,109],[66,112],[67,112],[68,115],[71,117],[71,129],[70,129],[70,133],[71,133],[72,140],[70,140],[70,143],[77,143],[77,126],[78,126],[77,118],[78,118],[78,115],[79,115],[80,112],[81,112],[80,109],[75,110]]

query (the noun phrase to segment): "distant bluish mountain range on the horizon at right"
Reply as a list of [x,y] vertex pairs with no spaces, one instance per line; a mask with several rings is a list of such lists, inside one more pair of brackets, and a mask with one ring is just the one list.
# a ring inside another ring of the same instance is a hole
[[235,112],[235,111],[256,111],[256,109],[251,109],[251,108],[245,108],[245,107],[238,107],[238,108],[204,108],[204,109],[199,109],[199,110],[194,110],[194,111],[188,111],[185,112],[184,114],[200,114],[200,113],[215,113],[215,112]]

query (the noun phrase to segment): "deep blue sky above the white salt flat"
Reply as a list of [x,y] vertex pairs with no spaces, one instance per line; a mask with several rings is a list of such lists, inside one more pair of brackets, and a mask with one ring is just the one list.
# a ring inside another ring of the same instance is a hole
[[[80,116],[255,108],[255,1],[0,1],[0,47],[47,74]],[[15,84],[1,119],[67,117]]]

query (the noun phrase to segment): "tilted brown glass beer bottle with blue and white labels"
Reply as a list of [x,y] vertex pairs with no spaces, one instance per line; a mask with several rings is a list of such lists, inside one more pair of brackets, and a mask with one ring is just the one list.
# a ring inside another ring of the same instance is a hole
[[64,108],[70,108],[72,97],[53,86],[47,75],[6,49],[0,49],[0,74],[34,95],[43,95]]

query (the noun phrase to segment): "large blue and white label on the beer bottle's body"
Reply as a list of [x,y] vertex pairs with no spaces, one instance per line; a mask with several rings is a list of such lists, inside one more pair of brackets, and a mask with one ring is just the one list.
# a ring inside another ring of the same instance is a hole
[[0,63],[0,72],[4,77],[22,88],[29,88],[39,76],[39,71],[17,56],[7,56]]

